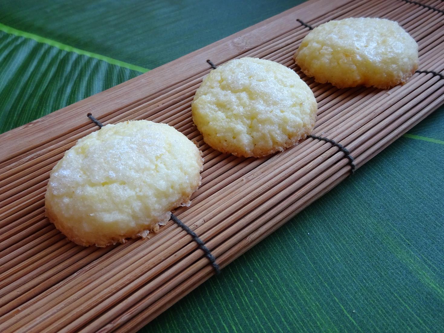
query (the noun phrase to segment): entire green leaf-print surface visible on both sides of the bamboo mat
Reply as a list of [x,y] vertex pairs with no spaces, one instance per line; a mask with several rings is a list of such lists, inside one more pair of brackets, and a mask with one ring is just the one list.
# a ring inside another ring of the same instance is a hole
[[[297,3],[3,1],[56,44],[0,32],[0,131],[140,74],[98,57],[152,69]],[[141,332],[442,332],[443,128],[441,107]]]

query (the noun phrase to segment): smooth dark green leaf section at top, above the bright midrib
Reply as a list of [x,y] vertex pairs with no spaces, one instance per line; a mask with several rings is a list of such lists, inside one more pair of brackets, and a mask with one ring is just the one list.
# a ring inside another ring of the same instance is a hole
[[153,69],[301,0],[2,0],[0,23]]

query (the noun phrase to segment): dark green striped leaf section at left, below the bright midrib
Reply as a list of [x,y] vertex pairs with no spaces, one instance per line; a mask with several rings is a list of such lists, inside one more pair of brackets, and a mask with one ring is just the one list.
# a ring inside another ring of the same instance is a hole
[[0,133],[141,74],[3,31],[0,73]]

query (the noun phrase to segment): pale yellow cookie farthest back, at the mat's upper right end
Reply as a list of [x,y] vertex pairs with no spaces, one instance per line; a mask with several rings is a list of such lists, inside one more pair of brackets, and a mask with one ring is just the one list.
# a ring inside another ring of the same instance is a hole
[[418,44],[394,21],[349,18],[314,28],[294,61],[319,83],[338,88],[386,89],[404,83],[418,68]]

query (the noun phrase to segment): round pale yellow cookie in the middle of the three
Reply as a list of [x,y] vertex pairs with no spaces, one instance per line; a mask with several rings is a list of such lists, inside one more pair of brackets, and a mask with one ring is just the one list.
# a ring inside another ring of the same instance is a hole
[[194,124],[211,147],[261,157],[309,135],[317,103],[291,69],[270,60],[242,58],[211,71],[191,109]]

